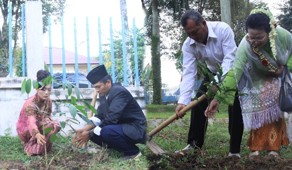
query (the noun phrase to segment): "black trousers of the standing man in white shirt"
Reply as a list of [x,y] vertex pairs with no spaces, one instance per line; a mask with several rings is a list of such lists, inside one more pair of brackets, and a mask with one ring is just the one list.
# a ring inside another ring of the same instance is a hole
[[[210,82],[209,78],[204,78],[199,89],[207,92],[207,86],[203,85],[204,82]],[[237,93],[236,93],[237,94]],[[202,94],[198,91],[196,97],[200,97]],[[211,101],[209,101],[211,102]],[[192,108],[191,111],[191,123],[188,133],[188,144],[191,144],[193,147],[202,148],[204,143],[204,136],[207,130],[207,118],[204,115],[205,110],[208,107],[208,101],[202,101],[199,105]],[[243,120],[241,115],[241,108],[238,97],[235,97],[233,106],[228,107],[228,116],[229,116],[229,125],[228,131],[230,134],[230,146],[229,152],[239,153],[240,152],[240,143],[243,134]]]

